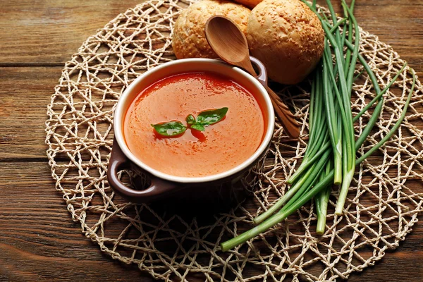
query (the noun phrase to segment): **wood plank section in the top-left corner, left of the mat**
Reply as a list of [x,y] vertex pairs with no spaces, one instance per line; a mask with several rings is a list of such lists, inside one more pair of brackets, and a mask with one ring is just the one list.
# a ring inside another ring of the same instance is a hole
[[0,66],[63,64],[87,37],[140,2],[1,1],[0,11],[6,16],[0,18]]

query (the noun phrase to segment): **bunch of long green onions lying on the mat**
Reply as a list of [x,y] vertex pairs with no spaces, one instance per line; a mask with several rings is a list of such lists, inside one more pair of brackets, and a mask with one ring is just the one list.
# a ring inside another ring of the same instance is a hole
[[[307,1],[303,1],[317,14],[319,20],[321,20],[321,25],[331,46],[329,46],[328,42],[325,42],[324,56],[317,67],[317,71],[314,73],[309,104],[309,144],[307,145],[302,164],[293,176],[288,179],[287,182],[292,187],[286,192],[286,195],[281,197],[266,212],[257,216],[254,222],[258,225],[255,228],[222,243],[221,250],[223,251],[229,250],[244,243],[246,240],[254,238],[259,233],[267,231],[302,207],[312,197],[315,197],[314,200],[316,202],[317,233],[324,233],[331,184],[342,183],[338,202],[336,203],[336,214],[342,214],[355,167],[379,149],[398,130],[400,123],[405,118],[407,106],[410,104],[415,87],[416,78],[412,70],[410,70],[413,77],[412,87],[400,118],[381,141],[372,147],[372,149],[369,149],[368,152],[364,153],[362,157],[356,159],[357,150],[365,142],[376,121],[379,119],[384,105],[384,93],[388,91],[400,73],[404,71],[406,64],[398,71],[393,80],[386,85],[384,90],[381,91],[376,75],[374,75],[365,59],[358,53],[360,31],[353,15],[355,1],[353,0],[351,6],[348,7],[345,4],[345,0],[342,0],[345,14],[345,18],[342,20],[336,18],[331,1],[326,1],[331,12],[333,25],[329,24],[329,19],[326,18],[326,15],[323,14],[322,18],[317,13],[316,1],[313,1],[312,5],[308,4]],[[347,19],[348,39],[346,38],[346,25],[343,26],[342,37],[339,32],[339,26],[341,23],[345,23]],[[354,44],[351,43],[353,39],[353,27],[355,32]],[[343,56],[344,46],[348,48],[345,58]],[[335,54],[334,66],[332,63],[332,49]],[[360,73],[357,77],[354,77],[357,59],[362,63],[364,67],[363,71],[366,71],[370,80],[372,80],[376,96],[353,118],[350,96],[354,80],[361,75]],[[378,103],[366,127],[356,141],[353,122],[357,121],[376,102]],[[336,157],[336,154],[338,154],[338,157]],[[331,157],[331,155],[333,156]],[[333,162],[331,161],[332,158]],[[339,175],[339,171],[342,171],[341,176]],[[341,181],[338,181],[340,180],[339,178],[341,178]]]

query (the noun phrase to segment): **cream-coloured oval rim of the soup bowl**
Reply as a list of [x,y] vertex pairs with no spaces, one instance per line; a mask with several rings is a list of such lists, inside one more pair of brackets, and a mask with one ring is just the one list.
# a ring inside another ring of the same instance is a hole
[[[134,91],[134,88],[136,87],[136,85],[140,83],[142,80],[145,80],[145,78],[147,78],[148,75],[154,72],[160,71],[163,68],[171,68],[177,64],[192,63],[192,62],[218,63],[225,68],[231,68],[232,71],[244,76],[245,78],[250,80],[250,82],[252,82],[253,85],[255,85],[255,87],[257,87],[257,89],[259,90],[259,93],[264,98],[264,102],[266,104],[266,109],[262,109],[262,111],[266,110],[266,113],[263,113],[263,114],[266,114],[267,116],[267,126],[266,126],[267,130],[262,140],[262,143],[256,149],[254,154],[252,154],[248,159],[243,161],[241,164],[238,164],[238,166],[235,166],[227,171],[223,171],[221,173],[217,173],[211,176],[201,176],[201,177],[173,176],[171,174],[158,171],[157,169],[154,169],[148,166],[147,164],[143,163],[140,159],[135,157],[135,155],[132,152],[130,152],[130,149],[128,148],[128,145],[126,145],[125,139],[123,137],[123,121],[125,119],[125,113],[123,112],[124,111],[123,107],[125,106],[125,102],[128,99],[128,96],[130,95],[130,93]],[[142,73],[142,75],[140,75],[133,82],[131,82],[130,85],[125,89],[125,91],[121,94],[121,97],[119,98],[118,103],[116,104],[116,109],[114,112],[114,136],[123,154],[125,154],[125,156],[128,157],[128,159],[130,159],[130,161],[132,161],[134,164],[144,169],[148,173],[151,173],[152,176],[156,176],[157,178],[161,178],[163,180],[168,180],[168,181],[176,182],[176,183],[205,183],[205,182],[220,180],[222,178],[229,178],[235,175],[235,173],[239,173],[240,171],[243,171],[245,170],[245,168],[248,168],[249,166],[254,164],[254,162],[257,161],[257,159],[259,159],[259,157],[261,157],[262,154],[268,148],[268,145],[271,141],[271,137],[273,136],[273,132],[274,132],[274,121],[275,121],[274,108],[273,108],[273,105],[271,104],[271,99],[269,97],[269,94],[267,94],[266,89],[263,87],[263,85],[249,73],[243,71],[242,69],[238,67],[231,66],[228,63],[225,63],[218,59],[204,59],[204,58],[178,59],[175,61],[163,63],[160,66],[156,66],[146,71],[145,73]]]

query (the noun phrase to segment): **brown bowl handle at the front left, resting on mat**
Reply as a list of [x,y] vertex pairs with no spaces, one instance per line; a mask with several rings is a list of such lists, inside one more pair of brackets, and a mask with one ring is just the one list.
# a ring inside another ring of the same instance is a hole
[[123,154],[121,147],[119,147],[116,139],[113,140],[113,147],[111,149],[111,156],[109,160],[109,167],[107,168],[107,180],[110,187],[127,198],[131,202],[147,203],[157,200],[161,197],[166,197],[171,190],[179,187],[178,184],[166,180],[161,180],[155,176],[150,176],[151,185],[145,190],[134,190],[129,188],[121,182],[118,178],[118,171],[123,168],[129,168],[131,164],[130,159]]

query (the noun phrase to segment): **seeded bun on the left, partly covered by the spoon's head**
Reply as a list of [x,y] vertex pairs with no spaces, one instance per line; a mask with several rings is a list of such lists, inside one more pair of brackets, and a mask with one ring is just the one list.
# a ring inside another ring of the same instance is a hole
[[176,58],[217,58],[204,33],[207,20],[214,15],[226,16],[246,34],[250,12],[249,8],[230,1],[202,0],[192,4],[180,13],[173,29]]

